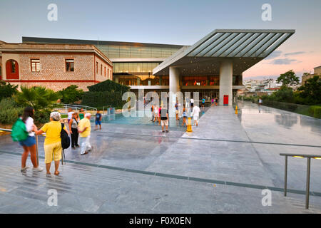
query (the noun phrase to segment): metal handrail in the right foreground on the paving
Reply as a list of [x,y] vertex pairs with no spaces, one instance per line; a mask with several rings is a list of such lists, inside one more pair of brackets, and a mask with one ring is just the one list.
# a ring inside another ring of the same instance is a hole
[[280,156],[285,156],[285,171],[284,171],[284,196],[285,197],[287,196],[287,157],[307,158],[307,182],[305,186],[305,209],[309,209],[311,158],[315,158],[319,160],[321,159],[321,155],[280,153]]

